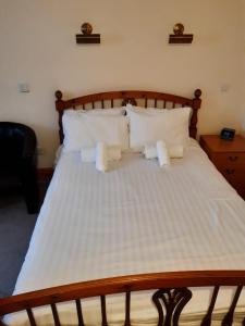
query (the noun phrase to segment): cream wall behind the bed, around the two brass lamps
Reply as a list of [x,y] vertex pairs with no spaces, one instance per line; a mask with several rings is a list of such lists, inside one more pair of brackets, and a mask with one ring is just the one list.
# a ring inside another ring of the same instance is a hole
[[[66,96],[146,89],[203,90],[199,133],[241,130],[244,115],[243,0],[0,0],[0,120],[30,125],[51,166],[58,146],[56,89]],[[101,45],[77,46],[90,22]],[[175,23],[194,34],[168,45]],[[29,93],[20,93],[19,83]],[[222,92],[221,86],[229,90]]]

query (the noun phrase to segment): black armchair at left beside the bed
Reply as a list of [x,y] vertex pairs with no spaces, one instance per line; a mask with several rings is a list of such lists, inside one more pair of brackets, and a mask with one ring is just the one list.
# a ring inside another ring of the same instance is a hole
[[27,212],[38,212],[36,135],[23,124],[0,122],[0,185],[21,185]]

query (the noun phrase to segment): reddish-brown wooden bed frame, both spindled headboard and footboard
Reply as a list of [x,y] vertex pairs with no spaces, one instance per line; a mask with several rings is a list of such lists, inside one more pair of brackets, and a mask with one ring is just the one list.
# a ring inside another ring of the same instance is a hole
[[[100,108],[106,108],[109,101],[111,108],[114,106],[117,99],[121,99],[121,103],[136,104],[136,100],[144,100],[145,108],[148,103],[154,102],[155,108],[159,108],[158,103],[162,102],[162,106],[167,108],[170,102],[171,108],[191,106],[193,115],[189,124],[189,136],[196,138],[197,134],[197,111],[200,108],[199,89],[195,90],[194,98],[187,99],[179,96],[152,92],[152,91],[111,91],[90,96],[83,96],[75,99],[62,100],[62,92],[56,92],[56,108],[59,112],[60,141],[63,141],[62,114],[66,109],[83,110],[87,108],[95,109],[96,103],[100,103]],[[151,105],[152,106],[152,105]],[[222,325],[232,325],[234,310],[245,285],[245,271],[196,271],[196,272],[170,272],[154,273],[144,275],[131,275],[124,277],[112,277],[107,279],[84,281],[60,287],[48,288],[39,291],[28,292],[24,294],[13,296],[0,299],[0,316],[19,311],[26,311],[27,318],[32,326],[38,325],[35,322],[34,308],[50,305],[54,325],[61,325],[59,318],[59,310],[57,303],[74,300],[77,312],[77,325],[84,326],[82,300],[91,297],[100,297],[101,302],[101,325],[107,326],[107,302],[106,296],[112,293],[125,293],[125,326],[131,325],[131,292],[154,290],[152,301],[158,311],[158,326],[179,325],[179,317],[185,304],[192,298],[192,291],[188,289],[195,287],[213,287],[212,297],[209,308],[200,323],[201,326],[211,325],[212,312],[216,300],[221,286],[236,287],[231,306],[229,308]],[[164,309],[163,309],[164,308]],[[0,318],[0,326],[4,325]],[[245,318],[243,319],[245,325]]]

